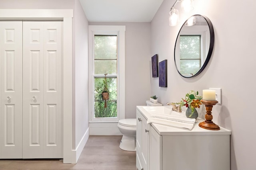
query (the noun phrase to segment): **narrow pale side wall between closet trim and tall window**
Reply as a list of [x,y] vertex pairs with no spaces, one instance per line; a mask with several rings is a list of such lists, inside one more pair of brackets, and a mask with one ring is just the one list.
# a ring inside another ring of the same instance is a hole
[[[74,10],[74,129],[73,149],[82,152],[89,137],[88,20],[79,0]],[[77,153],[80,155],[80,153]]]

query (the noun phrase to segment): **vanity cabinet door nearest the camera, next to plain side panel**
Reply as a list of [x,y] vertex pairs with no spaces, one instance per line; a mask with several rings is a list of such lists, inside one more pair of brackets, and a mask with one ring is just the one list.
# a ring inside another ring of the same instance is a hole
[[149,170],[162,170],[162,136],[149,128]]

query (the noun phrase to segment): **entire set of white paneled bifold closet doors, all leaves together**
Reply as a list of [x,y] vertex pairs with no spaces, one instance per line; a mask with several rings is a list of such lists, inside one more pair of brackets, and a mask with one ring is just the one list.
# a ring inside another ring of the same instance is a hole
[[63,157],[61,37],[61,21],[0,21],[0,158]]

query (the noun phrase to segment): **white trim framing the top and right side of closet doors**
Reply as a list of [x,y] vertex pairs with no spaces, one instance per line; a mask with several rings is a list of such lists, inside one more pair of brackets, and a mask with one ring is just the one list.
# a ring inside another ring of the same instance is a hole
[[2,21],[63,21],[63,163],[75,164],[76,150],[72,149],[72,18],[73,9],[0,9]]

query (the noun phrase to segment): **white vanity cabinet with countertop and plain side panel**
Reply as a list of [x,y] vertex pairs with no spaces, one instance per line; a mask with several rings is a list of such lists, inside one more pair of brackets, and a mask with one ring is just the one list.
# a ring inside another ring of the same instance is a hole
[[148,106],[137,106],[138,170],[230,170],[231,131],[202,129],[198,126],[202,119],[197,119],[191,131],[147,125],[144,122],[150,113],[144,107]]

